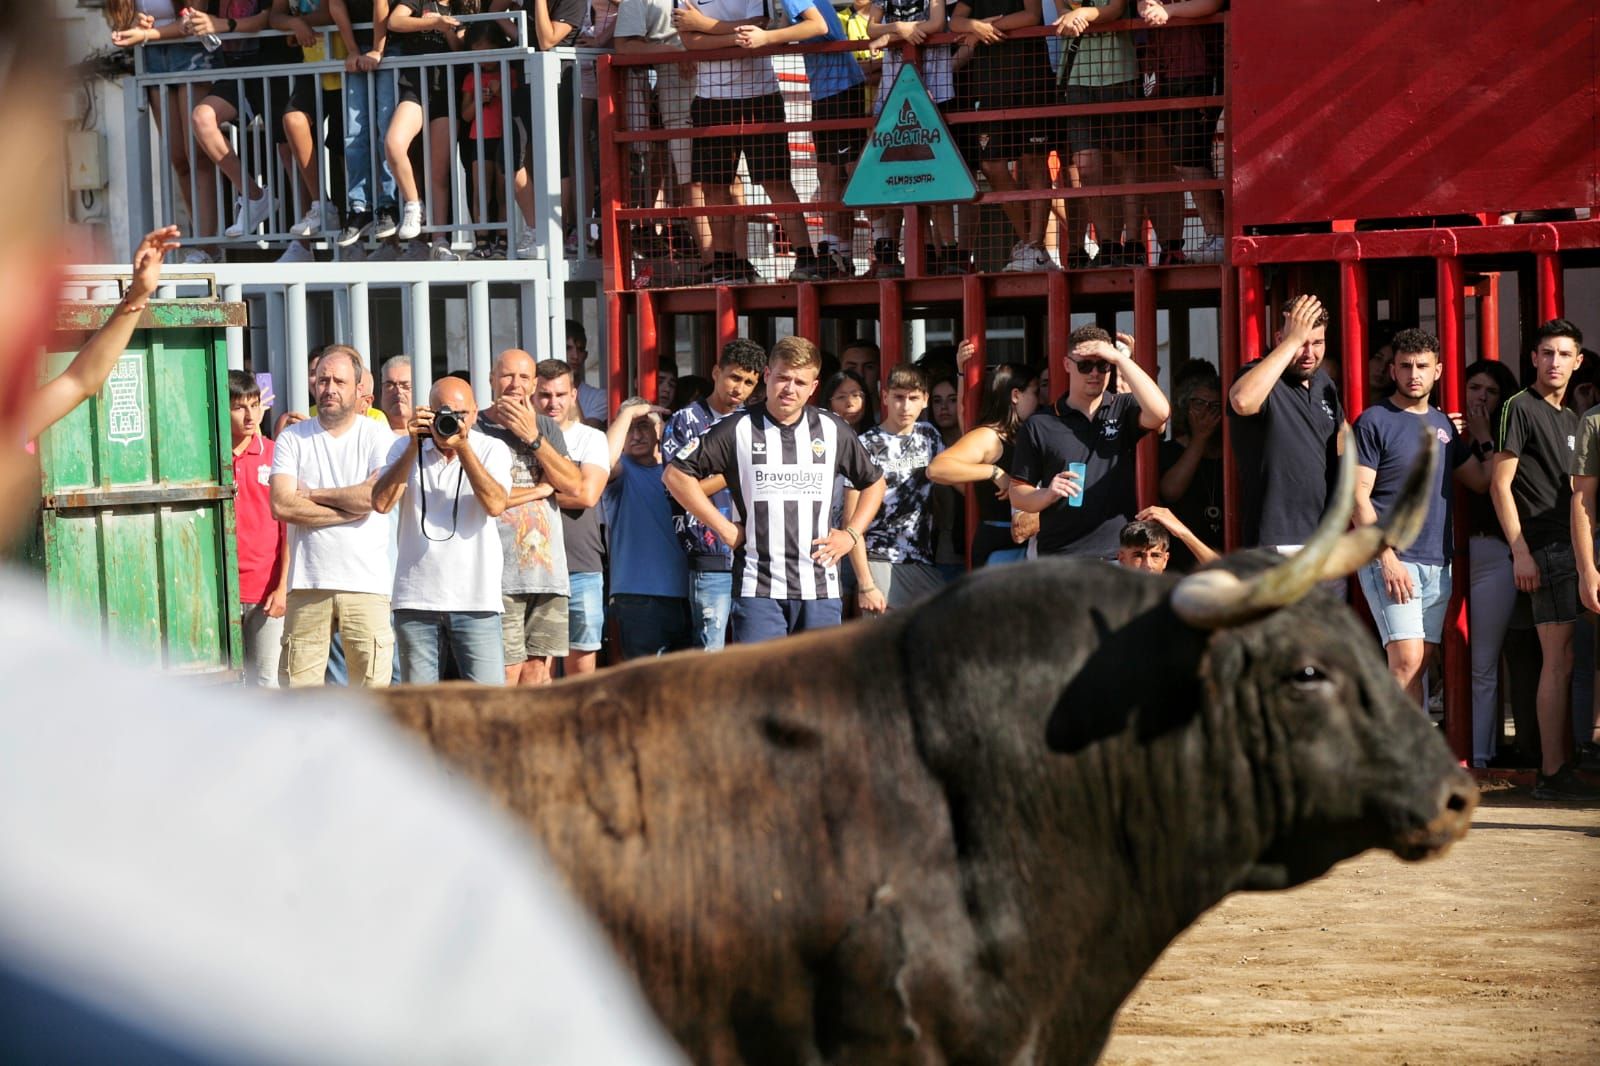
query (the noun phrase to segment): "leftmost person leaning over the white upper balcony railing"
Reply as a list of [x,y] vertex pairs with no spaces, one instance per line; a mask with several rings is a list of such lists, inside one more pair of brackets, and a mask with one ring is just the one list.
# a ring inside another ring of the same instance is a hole
[[[181,0],[106,0],[104,11],[112,29],[112,43],[118,48],[141,48],[146,74],[195,75],[184,85],[168,83],[165,91],[162,86],[146,86],[150,114],[166,141],[166,158],[173,165],[178,195],[182,197],[192,219],[189,112],[198,101],[205,99],[211,82],[203,72],[210,70],[213,62],[211,53],[189,34],[184,19],[173,6],[174,3],[181,3]],[[200,10],[206,8],[206,0],[194,0],[194,3]],[[197,187],[210,189],[214,179],[211,163],[203,154],[195,158],[195,170],[198,171]],[[210,258],[203,250],[192,248],[184,256],[184,262],[202,262]]]

